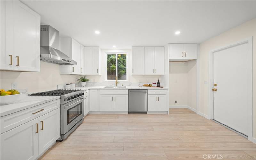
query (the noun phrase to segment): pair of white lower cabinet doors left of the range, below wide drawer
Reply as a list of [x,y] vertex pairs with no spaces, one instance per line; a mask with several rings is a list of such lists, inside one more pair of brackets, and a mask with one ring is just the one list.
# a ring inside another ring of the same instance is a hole
[[36,159],[56,142],[60,137],[60,108],[35,117],[0,134],[0,159]]

